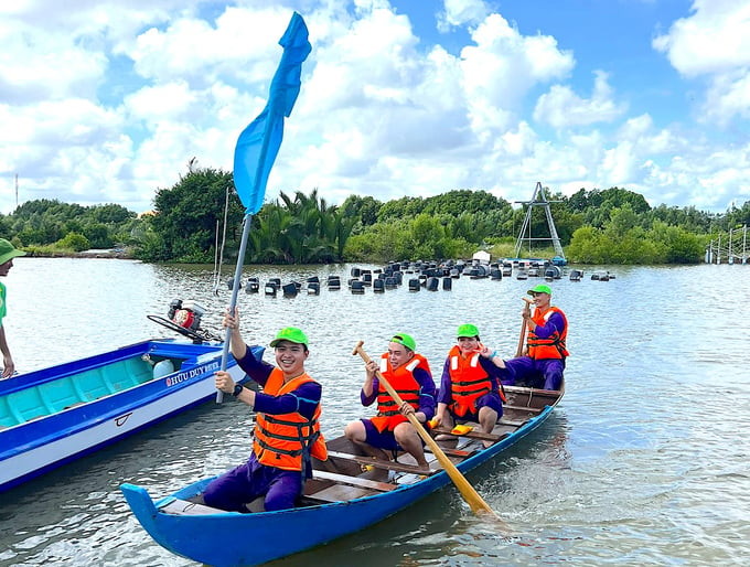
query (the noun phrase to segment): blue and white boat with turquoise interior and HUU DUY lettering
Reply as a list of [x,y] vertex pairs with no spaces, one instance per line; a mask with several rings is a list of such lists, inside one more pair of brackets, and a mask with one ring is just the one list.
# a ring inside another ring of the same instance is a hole
[[211,399],[222,353],[143,341],[0,381],[0,492]]

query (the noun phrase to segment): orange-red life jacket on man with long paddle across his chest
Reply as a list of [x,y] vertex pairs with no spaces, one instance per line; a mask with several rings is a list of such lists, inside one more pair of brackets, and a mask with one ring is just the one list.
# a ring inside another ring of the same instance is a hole
[[[414,357],[406,364],[400,365],[394,370],[388,360],[388,353],[381,356],[381,374],[388,384],[400,396],[401,400],[409,404],[415,411],[419,409],[419,391],[421,386],[414,377],[416,368],[425,368],[430,372],[430,365],[427,363],[421,354],[414,354]],[[378,431],[383,432],[386,429],[393,431],[398,424],[408,421],[398,408],[396,400],[390,397],[385,386],[378,382],[377,388],[377,416],[371,419]]]

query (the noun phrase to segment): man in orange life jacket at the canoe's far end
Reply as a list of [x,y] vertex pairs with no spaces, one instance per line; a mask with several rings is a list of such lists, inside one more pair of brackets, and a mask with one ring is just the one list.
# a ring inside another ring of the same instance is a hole
[[528,328],[526,355],[505,361],[502,383],[528,385],[535,388],[560,389],[568,351],[568,320],[565,313],[549,304],[553,290],[540,284],[527,291],[534,298],[534,314],[528,303],[521,313]]

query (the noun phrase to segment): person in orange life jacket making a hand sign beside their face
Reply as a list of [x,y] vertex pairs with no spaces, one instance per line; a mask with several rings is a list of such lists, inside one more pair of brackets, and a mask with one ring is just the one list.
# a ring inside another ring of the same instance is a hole
[[436,425],[453,428],[454,420],[474,421],[486,434],[503,415],[505,397],[500,386],[501,368],[505,368],[497,351],[480,342],[479,329],[462,324],[458,344],[448,353],[438,393]]

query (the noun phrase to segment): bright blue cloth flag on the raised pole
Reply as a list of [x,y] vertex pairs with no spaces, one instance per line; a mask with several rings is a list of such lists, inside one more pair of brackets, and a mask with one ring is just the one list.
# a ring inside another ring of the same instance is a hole
[[268,175],[283,139],[283,118],[294,106],[300,92],[302,62],[312,50],[308,26],[297,12],[279,44],[283,53],[271,81],[266,108],[243,130],[235,148],[234,182],[246,214],[255,214],[262,206]]

